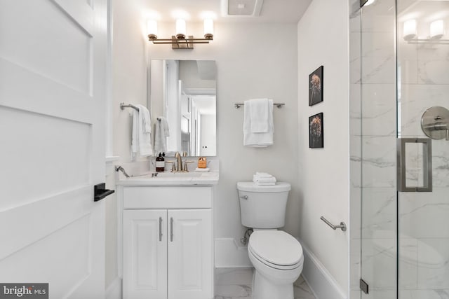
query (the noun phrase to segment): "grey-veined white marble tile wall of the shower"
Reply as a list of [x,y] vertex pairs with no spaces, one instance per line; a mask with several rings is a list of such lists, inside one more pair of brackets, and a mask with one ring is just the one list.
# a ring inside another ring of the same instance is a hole
[[[401,12],[410,13],[401,1],[398,36]],[[422,7],[428,4],[415,3],[413,9],[422,15],[431,11]],[[401,38],[396,43],[393,0],[377,0],[361,13],[355,5],[350,15],[351,298],[396,299],[396,286],[401,299],[449,298],[449,142],[432,142],[432,193],[396,194],[396,135],[425,137],[422,113],[431,106],[449,109],[449,45],[410,44]],[[429,5],[436,11],[448,6]],[[408,162],[421,164],[419,158]],[[409,175],[420,172],[418,167]],[[360,293],[359,277],[370,285],[369,295]]]

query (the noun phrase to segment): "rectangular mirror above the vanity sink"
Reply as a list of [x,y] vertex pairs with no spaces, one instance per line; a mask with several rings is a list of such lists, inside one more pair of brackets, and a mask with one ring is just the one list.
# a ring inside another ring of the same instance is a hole
[[213,60],[152,60],[154,154],[216,155],[217,69]]

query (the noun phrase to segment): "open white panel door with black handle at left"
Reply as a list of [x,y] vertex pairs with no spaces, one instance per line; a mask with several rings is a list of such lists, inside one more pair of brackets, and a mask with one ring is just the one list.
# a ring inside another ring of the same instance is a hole
[[106,0],[0,0],[0,283],[105,296]]

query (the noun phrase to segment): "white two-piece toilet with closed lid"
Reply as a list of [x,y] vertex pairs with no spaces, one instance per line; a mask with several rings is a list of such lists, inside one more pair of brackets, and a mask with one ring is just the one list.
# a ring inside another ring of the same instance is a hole
[[289,183],[258,186],[238,182],[241,223],[253,228],[248,254],[255,267],[253,299],[293,299],[293,282],[302,272],[302,247],[287,232],[285,223]]

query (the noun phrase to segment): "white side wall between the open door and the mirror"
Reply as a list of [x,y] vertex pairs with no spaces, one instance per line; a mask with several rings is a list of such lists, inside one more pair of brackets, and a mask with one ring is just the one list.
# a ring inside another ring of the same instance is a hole
[[[113,153],[116,164],[130,160],[131,110],[121,110],[120,102],[147,103],[147,59],[138,6],[132,1],[112,0],[112,120]],[[114,189],[114,173],[107,178]],[[106,201],[106,274],[105,284],[117,276],[116,196]]]

